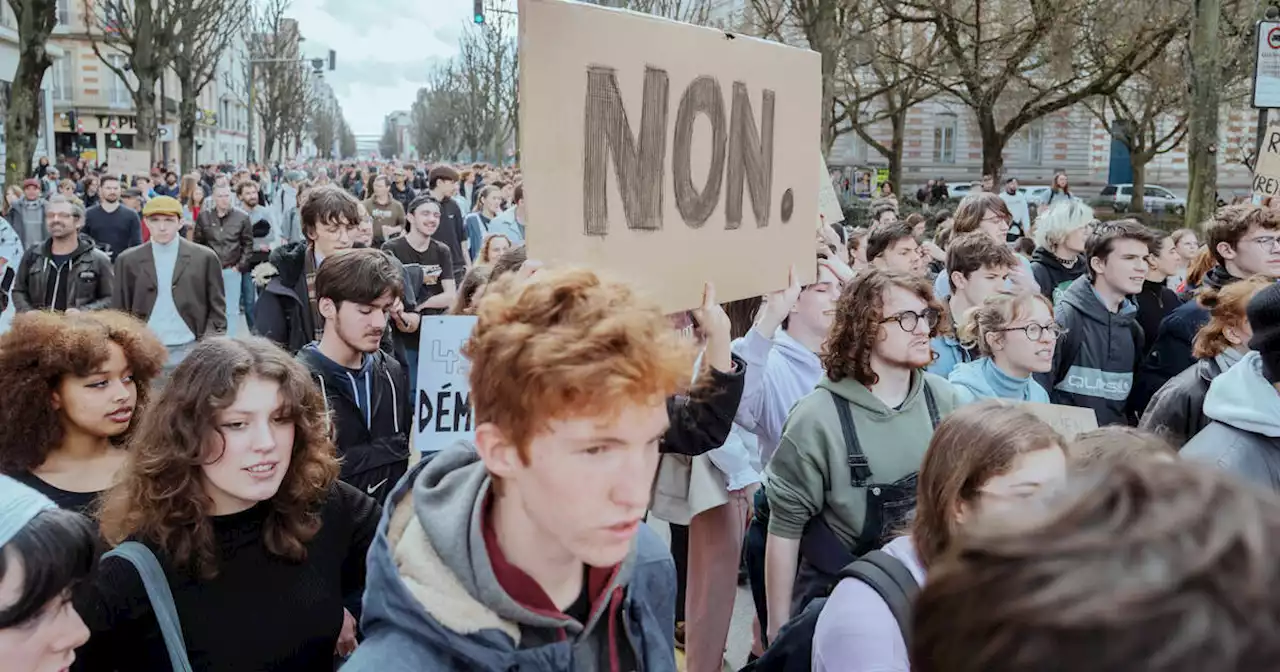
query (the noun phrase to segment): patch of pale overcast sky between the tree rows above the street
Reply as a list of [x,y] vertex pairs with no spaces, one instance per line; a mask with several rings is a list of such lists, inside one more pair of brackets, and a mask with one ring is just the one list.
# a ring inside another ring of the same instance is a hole
[[408,110],[433,63],[453,56],[471,20],[471,0],[293,0],[308,58],[338,51],[325,73],[356,134],[378,134],[383,118]]

